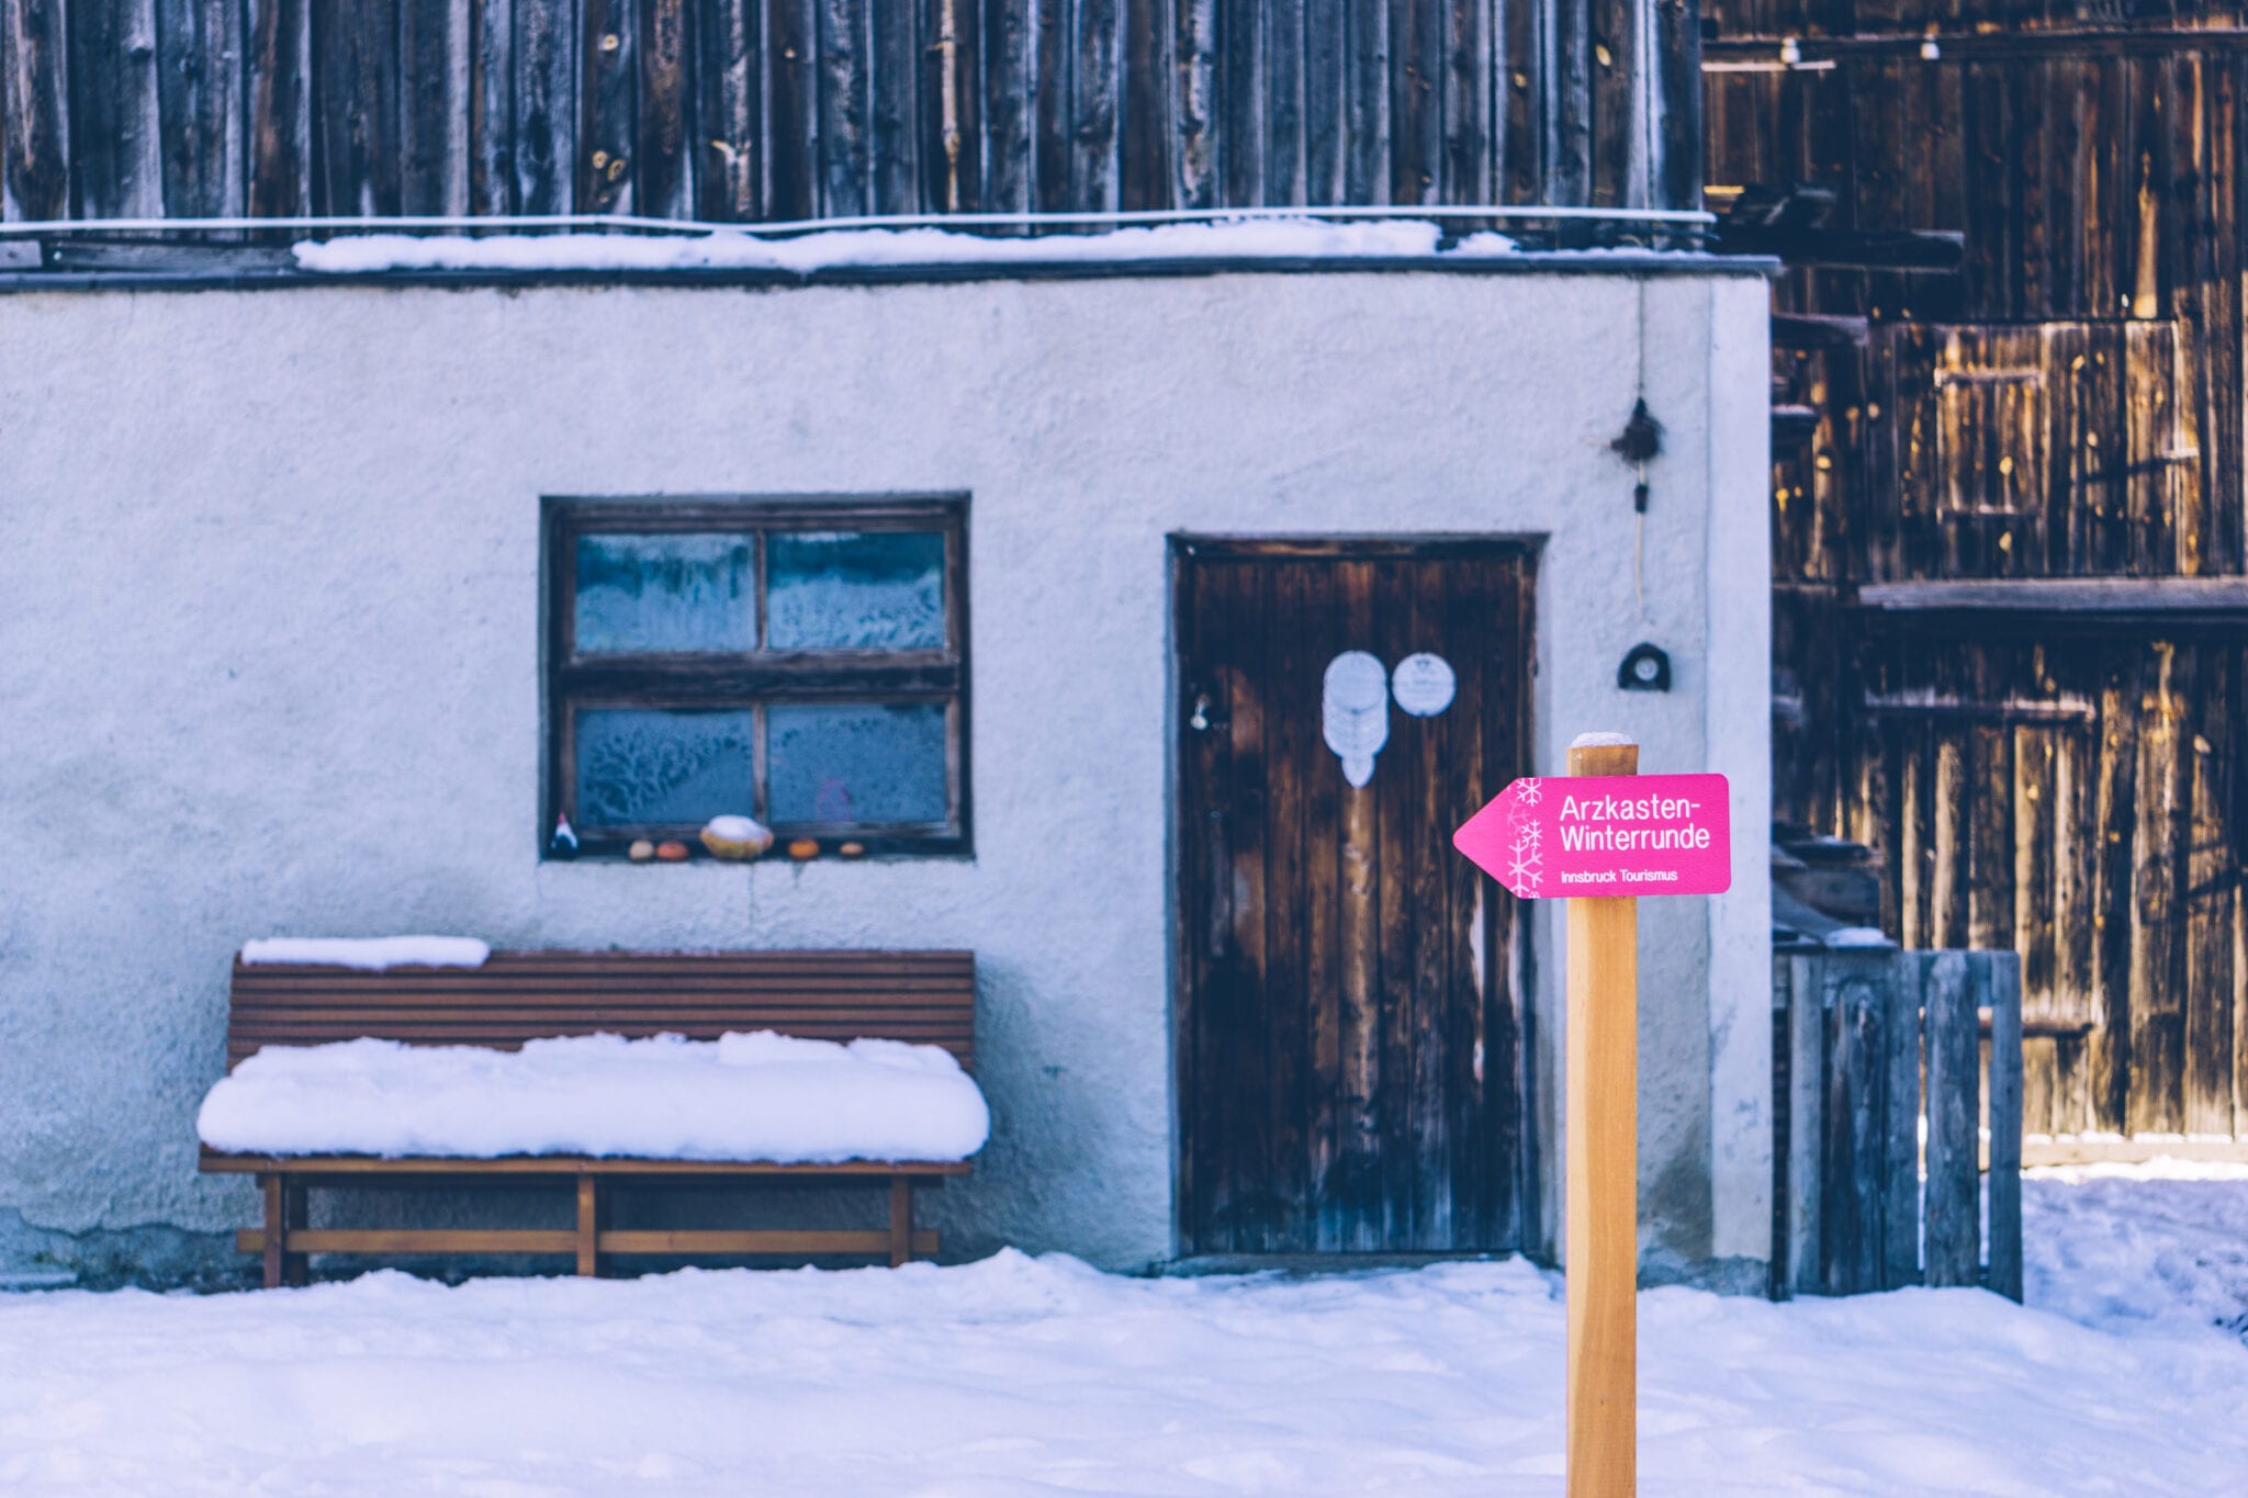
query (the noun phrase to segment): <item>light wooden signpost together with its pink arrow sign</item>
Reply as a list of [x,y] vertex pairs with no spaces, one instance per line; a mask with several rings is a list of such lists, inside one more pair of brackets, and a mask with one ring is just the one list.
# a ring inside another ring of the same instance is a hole
[[1567,777],[1524,777],[1452,833],[1522,898],[1569,901],[1562,1038],[1569,1498],[1637,1491],[1639,898],[1733,883],[1722,775],[1639,775],[1639,746],[1585,734]]

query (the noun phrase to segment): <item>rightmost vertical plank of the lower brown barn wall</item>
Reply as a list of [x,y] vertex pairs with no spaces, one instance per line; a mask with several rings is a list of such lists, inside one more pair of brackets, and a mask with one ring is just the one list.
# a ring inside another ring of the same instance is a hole
[[2192,831],[2185,847],[2185,1132],[2226,1134],[2232,1112],[2232,907],[2239,901],[2239,849],[2230,777],[2239,752],[2237,651],[2201,645],[2199,692],[2181,746],[2192,775]]

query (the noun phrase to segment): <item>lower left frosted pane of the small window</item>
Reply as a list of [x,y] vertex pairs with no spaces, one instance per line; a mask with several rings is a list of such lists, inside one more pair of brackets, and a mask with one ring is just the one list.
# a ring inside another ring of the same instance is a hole
[[578,824],[701,824],[755,806],[751,712],[591,707],[578,714]]

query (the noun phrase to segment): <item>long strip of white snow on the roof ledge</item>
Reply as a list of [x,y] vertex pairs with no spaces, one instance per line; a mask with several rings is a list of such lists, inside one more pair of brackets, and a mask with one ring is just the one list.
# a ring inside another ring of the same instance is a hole
[[414,270],[780,270],[818,272],[843,265],[1052,265],[1057,261],[1243,261],[1401,256],[1481,258],[1515,254],[1504,234],[1468,234],[1441,247],[1443,231],[1425,220],[1322,222],[1259,218],[1212,225],[1155,225],[1104,234],[985,236],[951,229],[830,229],[796,238],[746,231],[695,236],[638,234],[353,234],[301,240],[297,267],[326,274]]

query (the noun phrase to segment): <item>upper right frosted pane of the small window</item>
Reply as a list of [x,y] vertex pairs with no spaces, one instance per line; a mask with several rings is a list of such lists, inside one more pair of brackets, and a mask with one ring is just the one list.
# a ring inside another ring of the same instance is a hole
[[940,649],[944,537],[933,530],[778,530],[767,539],[773,649]]

